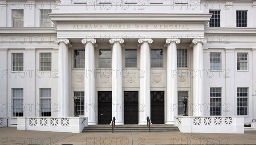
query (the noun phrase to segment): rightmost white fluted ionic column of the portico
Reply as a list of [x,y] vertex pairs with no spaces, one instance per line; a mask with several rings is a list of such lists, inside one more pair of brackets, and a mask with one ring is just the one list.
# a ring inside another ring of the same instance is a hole
[[204,79],[203,79],[203,44],[206,40],[193,39],[193,103],[195,105],[193,116],[204,116]]

